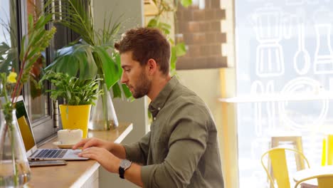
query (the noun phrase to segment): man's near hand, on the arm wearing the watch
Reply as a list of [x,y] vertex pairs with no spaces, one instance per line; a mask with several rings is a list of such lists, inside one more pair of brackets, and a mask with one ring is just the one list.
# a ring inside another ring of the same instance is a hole
[[107,151],[105,148],[89,147],[80,152],[78,156],[96,160],[107,171],[118,173],[120,159],[115,157],[115,155]]

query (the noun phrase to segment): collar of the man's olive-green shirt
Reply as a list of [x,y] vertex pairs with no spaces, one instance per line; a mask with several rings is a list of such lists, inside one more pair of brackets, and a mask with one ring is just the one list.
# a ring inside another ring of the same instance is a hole
[[157,97],[149,104],[149,111],[152,113],[153,117],[155,117],[157,113],[159,113],[159,110],[164,107],[166,100],[169,98],[169,95],[178,83],[179,81],[177,78],[173,76],[159,92],[159,95],[157,95]]

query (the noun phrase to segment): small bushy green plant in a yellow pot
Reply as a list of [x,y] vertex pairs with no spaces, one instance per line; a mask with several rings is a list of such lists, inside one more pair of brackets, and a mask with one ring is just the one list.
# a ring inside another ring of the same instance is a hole
[[40,85],[43,80],[50,80],[55,86],[46,90],[51,92],[53,100],[65,100],[63,105],[59,105],[63,129],[80,129],[83,130],[83,138],[87,137],[90,108],[97,96],[102,94],[102,90],[98,90],[98,81],[102,79],[80,79],[67,73],[48,71],[40,80]]

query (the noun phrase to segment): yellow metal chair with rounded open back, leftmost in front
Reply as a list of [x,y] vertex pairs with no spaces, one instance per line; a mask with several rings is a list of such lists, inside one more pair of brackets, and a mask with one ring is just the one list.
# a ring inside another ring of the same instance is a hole
[[[300,169],[305,169],[305,162],[307,164],[307,168],[310,168],[310,164],[307,161],[305,155],[298,150],[292,150],[290,148],[282,148],[282,147],[275,147],[273,149],[268,150],[263,154],[261,157],[261,164],[265,169],[265,172],[268,175],[268,179],[270,180],[270,186],[275,187],[275,180],[277,187],[289,188],[290,187],[290,178],[287,169],[287,158],[286,158],[286,151],[292,152],[295,155],[295,160],[301,159],[299,162]],[[264,159],[268,155],[268,167],[264,164]],[[300,156],[300,157],[299,157]],[[305,162],[304,162],[305,161]],[[297,169],[297,170],[300,170]]]

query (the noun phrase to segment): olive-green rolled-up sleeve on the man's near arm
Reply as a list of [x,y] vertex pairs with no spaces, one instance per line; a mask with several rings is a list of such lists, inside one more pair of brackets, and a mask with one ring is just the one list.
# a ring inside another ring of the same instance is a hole
[[208,140],[206,123],[202,121],[193,115],[177,120],[164,162],[142,167],[144,187],[187,187],[190,184]]

